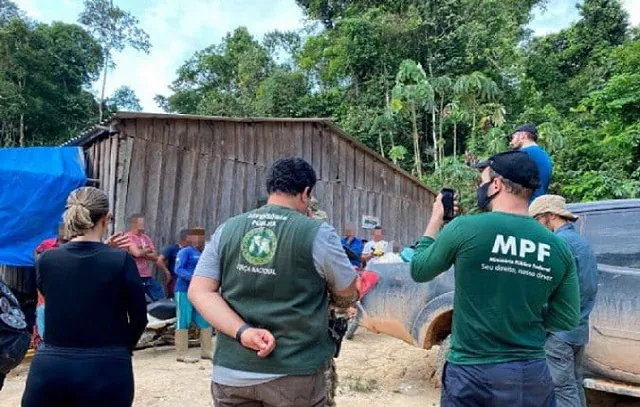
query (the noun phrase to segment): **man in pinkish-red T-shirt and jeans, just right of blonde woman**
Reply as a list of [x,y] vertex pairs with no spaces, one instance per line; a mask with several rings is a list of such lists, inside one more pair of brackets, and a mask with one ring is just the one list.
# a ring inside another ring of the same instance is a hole
[[[156,247],[151,238],[144,233],[144,215],[138,213],[129,218],[129,232],[127,232],[127,236],[131,241],[129,253],[136,261],[136,266],[138,266],[138,272],[142,278],[147,296],[149,296],[151,301],[164,298],[162,285],[158,280],[153,278],[151,269],[149,268],[149,261],[154,263],[158,261],[158,252],[156,252]],[[170,281],[171,273],[166,271],[165,273],[167,281]]]

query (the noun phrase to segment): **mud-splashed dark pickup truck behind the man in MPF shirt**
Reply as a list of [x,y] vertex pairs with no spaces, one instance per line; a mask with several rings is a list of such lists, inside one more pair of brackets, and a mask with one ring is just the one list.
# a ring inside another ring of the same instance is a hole
[[[576,227],[591,243],[600,271],[585,387],[640,397],[640,200],[570,205]],[[411,280],[409,265],[380,264],[378,285],[362,300],[361,325],[430,349],[451,333],[454,273]],[[443,360],[443,358],[440,358]]]

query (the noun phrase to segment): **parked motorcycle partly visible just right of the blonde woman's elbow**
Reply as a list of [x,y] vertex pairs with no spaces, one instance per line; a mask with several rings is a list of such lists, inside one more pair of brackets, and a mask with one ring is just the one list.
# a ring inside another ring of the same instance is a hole
[[151,346],[174,345],[176,303],[171,299],[147,300],[147,326],[136,345],[136,349]]

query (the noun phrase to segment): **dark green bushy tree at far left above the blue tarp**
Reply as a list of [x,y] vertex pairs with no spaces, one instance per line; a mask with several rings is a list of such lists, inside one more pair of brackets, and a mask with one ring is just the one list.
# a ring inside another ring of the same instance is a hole
[[2,143],[51,144],[88,126],[97,107],[86,89],[101,63],[100,45],[80,26],[12,19],[0,27]]

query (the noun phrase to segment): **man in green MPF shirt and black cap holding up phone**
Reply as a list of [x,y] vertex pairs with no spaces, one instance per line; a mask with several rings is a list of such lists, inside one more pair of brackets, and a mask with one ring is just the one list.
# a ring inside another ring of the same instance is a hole
[[441,405],[554,406],[544,345],[547,332],[578,324],[576,265],[566,243],[528,216],[539,177],[526,153],[497,154],[476,168],[478,207],[489,213],[458,217],[440,231],[439,195],[411,261],[417,282],[455,265]]

